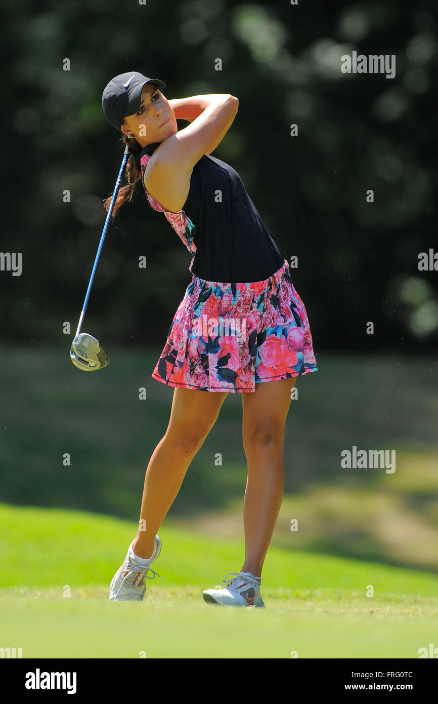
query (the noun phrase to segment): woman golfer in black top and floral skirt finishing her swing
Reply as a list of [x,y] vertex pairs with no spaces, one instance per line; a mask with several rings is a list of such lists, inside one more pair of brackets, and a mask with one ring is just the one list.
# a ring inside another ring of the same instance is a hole
[[[120,189],[113,215],[141,180],[150,206],[165,214],[191,253],[192,273],[152,373],[174,386],[169,425],[150,458],[139,529],[112,579],[110,600],[141,601],[146,577],[160,577],[150,567],[161,551],[157,530],[232,392],[242,394],[247,458],[245,560],[240,572],[228,572],[224,586],[206,589],[203,597],[263,607],[260,582],[283,497],[291,391],[296,377],[318,367],[288,260],[238,173],[210,156],[236,117],[238,99],[212,94],[167,100],[164,87],[132,71],[113,78],[102,98],[105,118],[130,148],[128,185]],[[176,118],[191,124],[178,130]]]

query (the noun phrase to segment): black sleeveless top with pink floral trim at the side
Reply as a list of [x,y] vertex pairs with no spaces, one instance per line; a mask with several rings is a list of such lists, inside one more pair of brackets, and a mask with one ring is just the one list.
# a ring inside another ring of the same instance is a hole
[[165,210],[146,190],[146,164],[161,142],[140,153],[141,182],[150,206],[165,217],[193,255],[189,271],[214,282],[267,279],[284,264],[238,172],[204,154],[193,167],[190,190],[181,210]]

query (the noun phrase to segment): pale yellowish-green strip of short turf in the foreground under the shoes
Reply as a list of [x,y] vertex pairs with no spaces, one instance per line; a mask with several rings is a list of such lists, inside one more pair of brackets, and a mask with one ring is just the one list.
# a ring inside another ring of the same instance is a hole
[[[202,601],[195,586],[150,586],[145,601],[108,589],[0,600],[1,640],[23,658],[418,658],[437,642],[437,599],[264,590],[266,610]],[[372,603],[370,603],[372,601]],[[144,655],[143,655],[144,653]]]

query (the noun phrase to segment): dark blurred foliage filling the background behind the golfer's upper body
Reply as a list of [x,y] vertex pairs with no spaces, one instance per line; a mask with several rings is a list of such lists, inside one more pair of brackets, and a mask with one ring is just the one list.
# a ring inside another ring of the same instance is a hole
[[[122,158],[101,94],[132,69],[165,80],[168,99],[238,96],[214,156],[240,173],[285,258],[298,257],[318,349],[436,348],[437,272],[418,271],[436,245],[432,1],[22,0],[2,14],[1,251],[22,252],[22,275],[0,275],[8,339],[64,344],[62,323],[77,325]],[[341,73],[353,50],[394,54],[395,77]],[[86,327],[107,342],[161,344],[189,263],[138,184],[108,230]]]

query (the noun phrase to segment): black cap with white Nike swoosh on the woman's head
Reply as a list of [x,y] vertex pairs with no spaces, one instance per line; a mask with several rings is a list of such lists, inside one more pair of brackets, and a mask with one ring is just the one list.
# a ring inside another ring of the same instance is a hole
[[102,94],[103,115],[116,130],[120,130],[124,117],[139,111],[141,91],[145,83],[152,83],[157,88],[166,87],[164,81],[148,78],[136,71],[121,73],[112,78],[105,87]]

